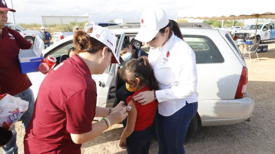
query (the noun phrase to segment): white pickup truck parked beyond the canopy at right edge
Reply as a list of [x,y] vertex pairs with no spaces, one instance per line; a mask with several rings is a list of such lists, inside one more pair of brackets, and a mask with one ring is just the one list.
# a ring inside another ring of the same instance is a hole
[[[275,39],[275,23],[258,23],[257,24],[257,34],[256,42],[261,42],[264,40]],[[247,25],[242,30],[235,32],[238,38],[245,40],[253,40],[256,32],[256,24]]]

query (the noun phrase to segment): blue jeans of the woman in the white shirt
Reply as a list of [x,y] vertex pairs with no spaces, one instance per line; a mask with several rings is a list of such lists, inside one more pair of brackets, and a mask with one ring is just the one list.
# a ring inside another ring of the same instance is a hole
[[155,125],[158,137],[158,154],[184,154],[183,143],[191,119],[196,115],[198,102],[188,104],[171,116],[162,116],[156,111]]

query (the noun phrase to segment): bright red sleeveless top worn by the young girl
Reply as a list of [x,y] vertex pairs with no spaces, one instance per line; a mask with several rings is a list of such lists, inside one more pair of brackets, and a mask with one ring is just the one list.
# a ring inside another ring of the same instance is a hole
[[[143,87],[141,90],[136,91],[132,96],[127,98],[127,103],[129,104],[131,98],[136,96],[140,92],[148,91],[150,88],[148,86]],[[137,109],[137,119],[135,121],[135,131],[141,131],[151,126],[154,122],[155,112],[157,109],[157,102],[154,100],[146,105],[141,105],[140,103],[132,100]]]

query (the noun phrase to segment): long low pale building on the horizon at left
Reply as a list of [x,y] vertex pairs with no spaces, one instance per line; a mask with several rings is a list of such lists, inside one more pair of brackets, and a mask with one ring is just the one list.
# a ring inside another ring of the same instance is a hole
[[56,25],[68,25],[70,24],[70,22],[76,22],[76,23],[80,23],[80,22],[84,22],[84,21],[89,21],[89,15],[88,13],[85,15],[81,15],[81,16],[65,16],[65,15],[60,15],[60,16],[54,16],[54,15],[45,15],[45,16],[41,16],[42,18],[42,25],[52,25],[52,24],[56,24]]

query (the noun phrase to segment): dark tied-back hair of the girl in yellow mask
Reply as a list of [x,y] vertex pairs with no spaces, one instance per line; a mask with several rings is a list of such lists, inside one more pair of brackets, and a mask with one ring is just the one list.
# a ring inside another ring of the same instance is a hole
[[154,70],[146,56],[130,60],[121,69],[119,76],[124,82],[127,82],[129,79],[134,80],[135,78],[139,78],[141,86],[149,85],[151,90],[158,90],[158,82],[155,78]]

